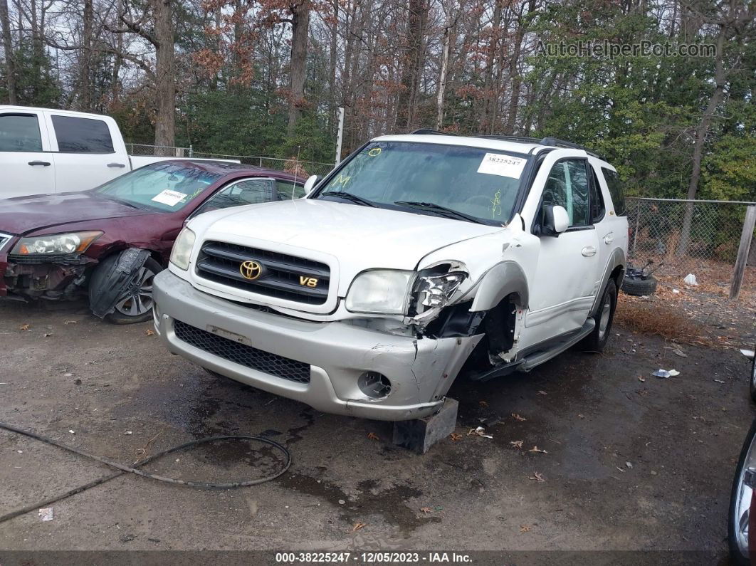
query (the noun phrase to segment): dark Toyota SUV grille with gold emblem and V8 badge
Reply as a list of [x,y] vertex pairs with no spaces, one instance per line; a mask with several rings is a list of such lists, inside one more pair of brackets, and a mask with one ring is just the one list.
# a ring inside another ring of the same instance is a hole
[[[256,280],[241,274],[244,261],[256,261],[262,266],[262,274]],[[197,275],[244,291],[308,305],[327,301],[330,282],[330,268],[320,261],[214,241],[203,244],[197,258]],[[317,280],[315,286],[302,284],[311,278]]]

